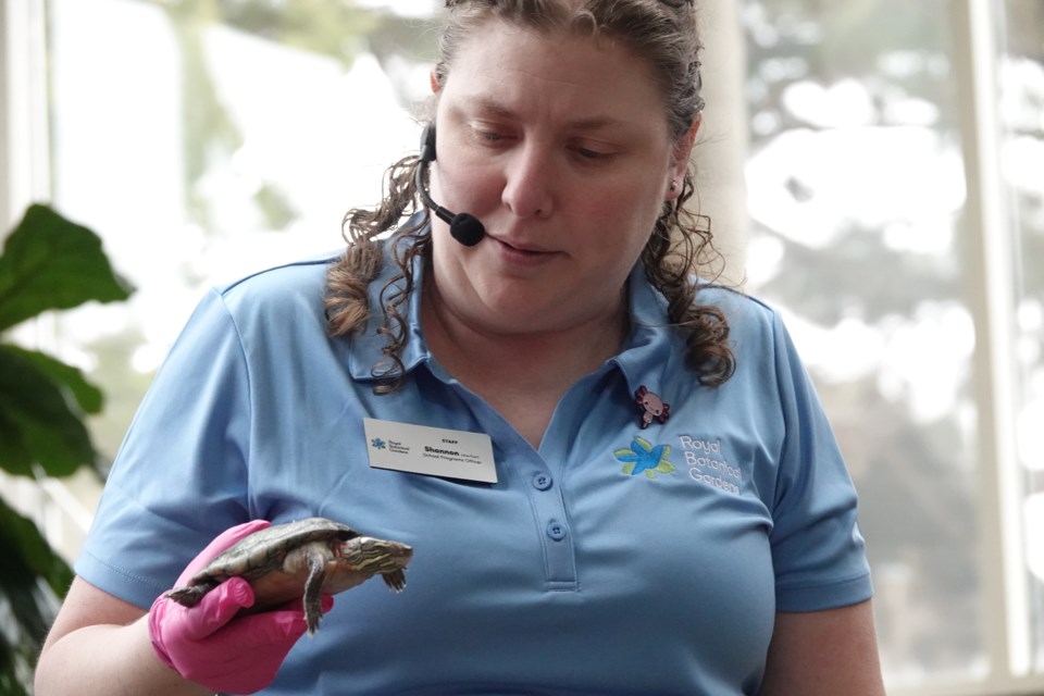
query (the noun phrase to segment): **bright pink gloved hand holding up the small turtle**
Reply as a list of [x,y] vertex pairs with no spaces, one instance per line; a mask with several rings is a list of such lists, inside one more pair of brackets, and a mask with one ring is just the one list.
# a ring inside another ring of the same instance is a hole
[[[254,520],[226,530],[200,551],[177,579],[185,585],[217,554],[239,539],[269,526]],[[160,595],[149,611],[149,635],[157,656],[187,680],[216,692],[252,694],[272,683],[297,639],[307,630],[300,602],[236,618],[253,605],[253,591],[233,577],[195,607],[184,607]],[[333,607],[323,597],[323,611]]]

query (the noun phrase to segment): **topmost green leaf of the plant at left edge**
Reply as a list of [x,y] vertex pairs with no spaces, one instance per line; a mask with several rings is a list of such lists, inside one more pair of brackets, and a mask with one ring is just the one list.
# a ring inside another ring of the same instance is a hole
[[30,206],[0,256],[0,331],[47,310],[125,300],[130,289],[98,235],[47,206]]

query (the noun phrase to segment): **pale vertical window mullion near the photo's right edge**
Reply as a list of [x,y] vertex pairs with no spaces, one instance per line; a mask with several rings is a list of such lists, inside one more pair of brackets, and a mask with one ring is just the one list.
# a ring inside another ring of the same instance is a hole
[[1030,608],[1023,486],[1015,450],[1017,375],[1011,231],[999,164],[995,0],[955,0],[955,83],[962,114],[968,302],[975,322],[983,635],[993,678],[1028,673]]

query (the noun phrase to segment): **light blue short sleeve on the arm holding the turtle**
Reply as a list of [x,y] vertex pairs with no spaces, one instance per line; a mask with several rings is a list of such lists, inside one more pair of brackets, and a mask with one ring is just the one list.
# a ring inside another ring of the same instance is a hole
[[76,573],[147,608],[221,531],[249,519],[250,384],[212,291],[157,373],[105,484]]

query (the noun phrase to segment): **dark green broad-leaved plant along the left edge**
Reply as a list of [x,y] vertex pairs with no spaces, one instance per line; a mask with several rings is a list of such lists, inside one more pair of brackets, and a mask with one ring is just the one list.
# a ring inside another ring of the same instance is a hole
[[[15,476],[67,476],[95,464],[84,425],[101,389],[46,353],[3,339],[44,312],[125,300],[94,232],[32,206],[0,256],[0,467]],[[33,521],[0,499],[0,694],[32,693],[33,666],[73,572]]]

